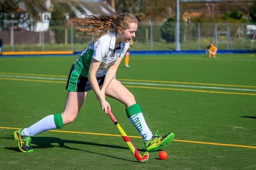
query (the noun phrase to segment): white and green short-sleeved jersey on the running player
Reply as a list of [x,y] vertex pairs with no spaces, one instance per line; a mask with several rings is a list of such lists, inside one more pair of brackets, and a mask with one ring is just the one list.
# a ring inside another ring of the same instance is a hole
[[119,57],[124,57],[130,44],[121,42],[115,49],[115,43],[115,31],[108,32],[97,41],[93,41],[74,63],[76,71],[87,77],[90,63],[94,58],[101,62],[96,77],[106,74],[108,66],[114,64]]

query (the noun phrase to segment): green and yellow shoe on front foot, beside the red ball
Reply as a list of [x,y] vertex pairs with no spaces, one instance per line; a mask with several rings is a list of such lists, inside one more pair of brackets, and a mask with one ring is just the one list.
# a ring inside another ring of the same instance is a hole
[[153,135],[153,137],[149,141],[144,141],[146,151],[155,152],[159,148],[165,147],[166,145],[171,143],[174,139],[174,133],[168,133],[163,136],[158,136],[157,132],[158,131],[156,131],[155,135]]

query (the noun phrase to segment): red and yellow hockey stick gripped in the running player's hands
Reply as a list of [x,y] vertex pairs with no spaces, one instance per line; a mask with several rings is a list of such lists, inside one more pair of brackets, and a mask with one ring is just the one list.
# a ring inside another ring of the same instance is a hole
[[126,135],[122,127],[119,125],[118,121],[114,117],[113,113],[108,109],[108,115],[112,119],[113,123],[116,125],[118,131],[120,132],[120,135],[124,139],[125,143],[128,145],[129,149],[132,151],[138,162],[146,162],[149,158],[148,152],[144,152],[143,157],[140,155],[136,147],[133,145],[132,141],[129,139],[129,137]]

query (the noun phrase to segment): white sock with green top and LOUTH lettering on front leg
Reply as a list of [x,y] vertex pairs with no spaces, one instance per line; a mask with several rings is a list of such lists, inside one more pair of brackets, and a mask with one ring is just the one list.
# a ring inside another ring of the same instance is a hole
[[148,128],[148,125],[142,114],[140,105],[134,104],[126,109],[127,117],[132,125],[137,129],[138,133],[144,141],[149,141],[152,138],[152,132]]

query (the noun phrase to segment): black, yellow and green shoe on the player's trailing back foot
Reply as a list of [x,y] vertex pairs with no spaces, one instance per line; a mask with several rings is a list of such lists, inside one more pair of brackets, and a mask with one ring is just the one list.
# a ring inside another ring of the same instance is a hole
[[21,131],[23,128],[20,128],[19,130],[14,132],[14,139],[16,142],[18,142],[18,147],[22,152],[30,153],[34,152],[33,148],[29,146],[29,143],[32,141],[32,139],[29,136],[23,136],[21,135]]

